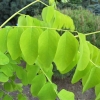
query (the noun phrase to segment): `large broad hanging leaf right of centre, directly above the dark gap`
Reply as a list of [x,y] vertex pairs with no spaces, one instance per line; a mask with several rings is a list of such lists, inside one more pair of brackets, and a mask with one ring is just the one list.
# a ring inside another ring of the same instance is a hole
[[73,62],[77,51],[77,39],[70,32],[65,32],[60,37],[54,59],[54,62],[57,65],[57,69],[61,73],[63,73],[63,71],[65,71],[66,68]]

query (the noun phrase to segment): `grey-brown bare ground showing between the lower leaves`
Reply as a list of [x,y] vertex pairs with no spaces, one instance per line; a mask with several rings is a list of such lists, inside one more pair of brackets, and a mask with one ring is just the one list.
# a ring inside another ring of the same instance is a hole
[[[53,78],[53,82],[57,84],[58,91],[60,91],[61,89],[66,89],[68,91],[74,92],[75,100],[95,100],[94,89],[90,89],[82,94],[81,81],[76,84],[71,84],[71,78],[66,77],[64,79]],[[38,100],[37,98],[32,97],[31,93],[29,92],[29,86],[24,87],[23,92],[28,96],[28,100]],[[11,93],[11,95],[14,97],[14,100],[17,100],[15,99],[17,92],[13,92]]]

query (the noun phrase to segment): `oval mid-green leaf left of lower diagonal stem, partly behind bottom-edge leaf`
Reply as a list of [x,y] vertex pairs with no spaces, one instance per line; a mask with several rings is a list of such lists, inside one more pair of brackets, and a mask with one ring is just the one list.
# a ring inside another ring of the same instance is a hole
[[43,87],[43,85],[46,83],[46,78],[43,74],[37,75],[31,85],[31,93],[33,96],[37,96],[40,89]]

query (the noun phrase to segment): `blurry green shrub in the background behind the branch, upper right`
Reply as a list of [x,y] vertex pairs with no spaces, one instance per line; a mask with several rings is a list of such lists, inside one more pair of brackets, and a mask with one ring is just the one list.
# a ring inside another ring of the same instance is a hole
[[[64,9],[62,10],[64,14],[69,15],[75,24],[75,30],[78,32],[83,33],[90,33],[100,30],[100,16],[95,16],[88,10],[85,9],[78,9],[78,10],[71,10],[71,9]],[[92,44],[100,47],[100,35],[93,34],[91,36],[86,37],[88,41],[91,41]]]

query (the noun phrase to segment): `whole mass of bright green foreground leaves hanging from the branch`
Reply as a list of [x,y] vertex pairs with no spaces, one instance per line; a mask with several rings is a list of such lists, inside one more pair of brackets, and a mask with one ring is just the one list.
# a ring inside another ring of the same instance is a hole
[[[100,49],[87,42],[84,34],[74,36],[74,29],[73,20],[51,6],[43,9],[42,20],[21,15],[18,26],[2,28],[0,36],[6,35],[0,38],[0,82],[4,90],[0,92],[1,99],[12,100],[7,92],[18,91],[18,100],[28,100],[22,90],[30,85],[31,94],[40,100],[74,100],[72,92],[57,91],[52,82],[52,62],[62,74],[77,65],[72,83],[82,79],[83,92],[95,87],[96,100],[100,99]],[[59,35],[58,31],[65,32]],[[20,66],[21,61],[26,62],[25,67]]]

